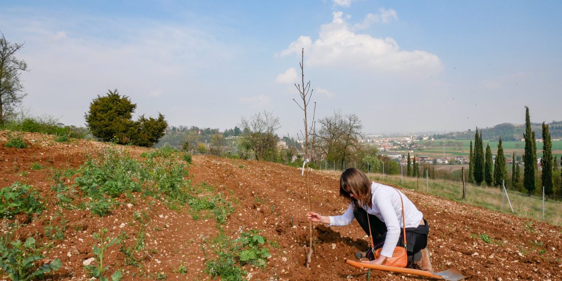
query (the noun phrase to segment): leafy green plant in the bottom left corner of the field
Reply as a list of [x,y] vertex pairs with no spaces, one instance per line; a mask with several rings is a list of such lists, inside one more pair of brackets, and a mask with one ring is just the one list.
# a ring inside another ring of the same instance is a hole
[[20,240],[7,243],[4,237],[0,241],[0,268],[14,281],[44,279],[45,275],[61,268],[59,259],[39,265],[44,259],[35,244],[35,238],[28,237],[24,243]]

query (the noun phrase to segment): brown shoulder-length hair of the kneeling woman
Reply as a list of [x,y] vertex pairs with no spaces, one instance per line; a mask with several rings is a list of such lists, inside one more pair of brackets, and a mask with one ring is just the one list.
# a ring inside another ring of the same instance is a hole
[[[339,178],[339,196],[353,204],[356,209],[371,202],[371,181],[361,170],[349,168]],[[350,193],[353,194],[352,198]]]

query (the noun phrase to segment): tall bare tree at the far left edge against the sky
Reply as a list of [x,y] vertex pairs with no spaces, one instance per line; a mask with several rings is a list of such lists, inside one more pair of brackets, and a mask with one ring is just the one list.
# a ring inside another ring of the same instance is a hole
[[3,33],[0,35],[0,125],[3,125],[7,113],[26,96],[20,81],[20,71],[28,70],[28,65],[15,56],[24,44],[12,44]]

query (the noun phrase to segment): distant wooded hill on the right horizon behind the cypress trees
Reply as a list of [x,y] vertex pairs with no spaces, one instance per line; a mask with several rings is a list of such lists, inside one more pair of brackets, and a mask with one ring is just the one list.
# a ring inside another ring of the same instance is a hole
[[[531,123],[531,128],[534,130],[536,138],[541,138],[542,123]],[[549,123],[550,135],[553,139],[562,138],[562,121],[552,121]],[[523,138],[525,132],[525,124],[511,124],[502,123],[493,126],[492,128],[478,128],[482,130],[482,138],[490,140],[520,140]],[[447,134],[434,134],[436,139],[472,139],[474,138],[474,130],[468,129],[464,132],[452,132]]]

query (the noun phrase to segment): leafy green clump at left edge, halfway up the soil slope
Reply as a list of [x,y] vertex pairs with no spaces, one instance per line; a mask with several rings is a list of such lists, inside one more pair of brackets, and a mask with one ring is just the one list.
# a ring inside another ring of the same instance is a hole
[[0,190],[0,217],[11,219],[20,213],[31,216],[40,214],[44,209],[39,201],[39,193],[30,185],[16,182]]

